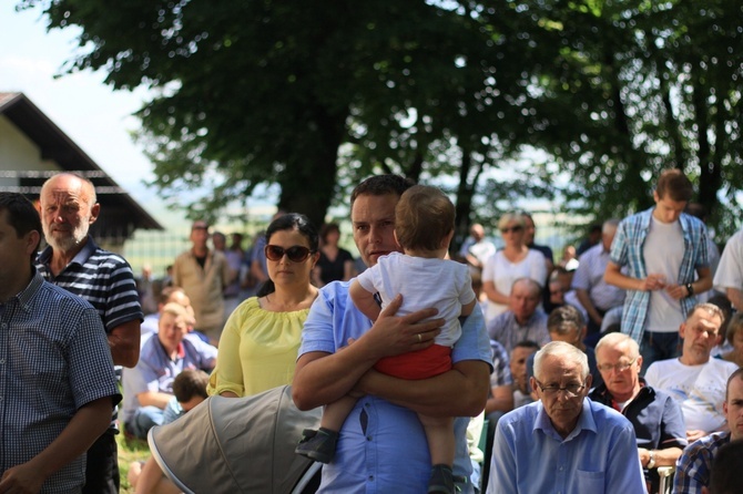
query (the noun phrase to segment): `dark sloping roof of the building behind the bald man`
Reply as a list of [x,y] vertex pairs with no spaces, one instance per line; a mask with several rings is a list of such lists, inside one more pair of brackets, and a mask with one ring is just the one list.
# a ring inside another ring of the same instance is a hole
[[[64,132],[62,132],[23,93],[0,92],[0,115],[12,122],[41,151],[41,158],[59,166],[55,172],[30,172],[7,169],[0,174],[19,178],[18,191],[30,199],[37,199],[41,185],[51,175],[75,172],[93,182],[101,215],[91,227],[95,237],[128,238],[134,229],[163,229],[140,204],[123,191],[113,178],[91,159]],[[8,187],[4,187],[6,189]]]

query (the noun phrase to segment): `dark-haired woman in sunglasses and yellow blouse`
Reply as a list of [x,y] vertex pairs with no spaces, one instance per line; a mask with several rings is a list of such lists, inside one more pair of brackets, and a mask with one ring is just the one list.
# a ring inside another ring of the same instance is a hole
[[248,397],[292,382],[302,327],[317,297],[309,282],[317,249],[317,230],[306,216],[289,213],[268,225],[268,279],[230,316],[210,395]]

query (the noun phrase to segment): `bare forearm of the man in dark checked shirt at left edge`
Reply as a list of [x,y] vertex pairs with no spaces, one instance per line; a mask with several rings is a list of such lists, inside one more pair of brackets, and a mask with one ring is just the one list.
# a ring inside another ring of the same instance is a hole
[[88,451],[111,422],[111,397],[82,405],[62,433],[28,462],[8,469],[0,492],[39,492],[49,476]]

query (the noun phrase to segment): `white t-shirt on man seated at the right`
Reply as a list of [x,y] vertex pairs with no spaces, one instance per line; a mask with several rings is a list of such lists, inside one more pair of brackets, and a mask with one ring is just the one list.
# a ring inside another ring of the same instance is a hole
[[734,363],[720,359],[701,366],[684,366],[679,359],[659,360],[648,368],[645,381],[679,402],[686,430],[710,433],[725,425],[722,403],[727,378],[736,369]]

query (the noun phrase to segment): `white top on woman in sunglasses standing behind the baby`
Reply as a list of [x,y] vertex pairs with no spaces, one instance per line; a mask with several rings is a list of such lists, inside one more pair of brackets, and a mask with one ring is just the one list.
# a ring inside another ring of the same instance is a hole
[[[499,250],[488,259],[482,269],[482,282],[492,281],[496,289],[503,295],[510,295],[511,285],[519,278],[531,278],[543,287],[547,280],[544,255],[539,250],[529,249],[521,261],[511,263],[503,255],[503,251]],[[488,310],[485,313],[486,322],[507,310],[508,305],[488,300]]]

